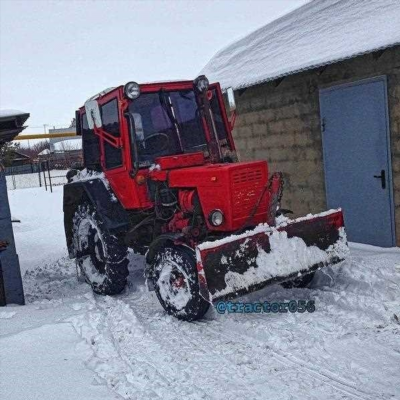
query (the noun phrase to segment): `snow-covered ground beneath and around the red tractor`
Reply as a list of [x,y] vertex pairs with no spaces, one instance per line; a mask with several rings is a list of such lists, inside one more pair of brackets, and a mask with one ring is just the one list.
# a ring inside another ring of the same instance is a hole
[[314,313],[169,317],[132,255],[129,285],[94,296],[67,258],[62,188],[10,191],[27,305],[0,309],[0,398],[400,399],[400,249],[353,245],[309,289]]

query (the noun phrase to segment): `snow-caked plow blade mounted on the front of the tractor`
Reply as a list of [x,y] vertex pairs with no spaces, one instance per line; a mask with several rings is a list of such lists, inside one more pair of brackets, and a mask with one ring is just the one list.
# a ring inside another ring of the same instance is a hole
[[348,253],[343,214],[331,210],[196,247],[200,293],[230,299],[338,263]]

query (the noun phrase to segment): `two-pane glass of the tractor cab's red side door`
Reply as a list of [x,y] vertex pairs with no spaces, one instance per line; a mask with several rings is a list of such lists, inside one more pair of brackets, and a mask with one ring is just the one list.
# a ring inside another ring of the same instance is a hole
[[[120,121],[118,117],[118,101],[113,99],[100,107],[103,129],[110,135],[120,137]],[[107,169],[122,166],[122,149],[114,147],[104,140],[104,156]]]

